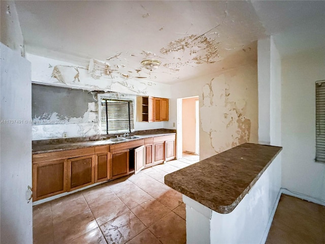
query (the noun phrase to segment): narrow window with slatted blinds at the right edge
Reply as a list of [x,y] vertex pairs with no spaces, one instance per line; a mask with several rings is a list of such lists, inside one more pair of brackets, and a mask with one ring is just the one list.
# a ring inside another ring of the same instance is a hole
[[325,163],[325,80],[316,81],[316,162]]

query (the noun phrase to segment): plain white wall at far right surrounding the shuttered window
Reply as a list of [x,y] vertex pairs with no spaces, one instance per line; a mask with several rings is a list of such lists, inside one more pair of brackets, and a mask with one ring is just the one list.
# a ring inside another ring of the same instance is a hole
[[282,59],[282,187],[325,200],[325,164],[315,163],[315,81],[325,79],[325,50]]

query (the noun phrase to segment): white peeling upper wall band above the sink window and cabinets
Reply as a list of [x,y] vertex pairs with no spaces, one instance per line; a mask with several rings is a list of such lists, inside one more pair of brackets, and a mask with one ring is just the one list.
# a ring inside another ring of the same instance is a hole
[[[103,90],[140,96],[170,98],[171,86],[137,79],[131,76],[113,76],[107,73],[101,62],[93,64],[90,60],[89,67],[80,67],[76,64],[62,62],[51,58],[36,56],[26,53],[26,58],[31,63],[31,80],[39,84],[51,84],[61,87],[72,87],[85,90]],[[91,67],[98,68],[92,69]]]

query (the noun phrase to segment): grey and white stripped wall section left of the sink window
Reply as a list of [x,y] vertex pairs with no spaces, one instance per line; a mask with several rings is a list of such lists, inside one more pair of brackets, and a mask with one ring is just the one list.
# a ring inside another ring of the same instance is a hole
[[45,85],[32,85],[32,139],[100,134],[96,94]]

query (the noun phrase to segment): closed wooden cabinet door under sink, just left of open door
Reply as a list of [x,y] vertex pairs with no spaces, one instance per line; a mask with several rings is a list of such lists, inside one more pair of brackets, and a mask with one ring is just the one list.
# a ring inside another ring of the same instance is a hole
[[111,156],[112,179],[128,174],[129,150],[114,151]]

